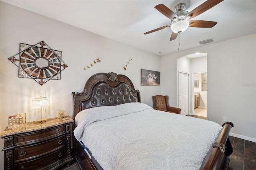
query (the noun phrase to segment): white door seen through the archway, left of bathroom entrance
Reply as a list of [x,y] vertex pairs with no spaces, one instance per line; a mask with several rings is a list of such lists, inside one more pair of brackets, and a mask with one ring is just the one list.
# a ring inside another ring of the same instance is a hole
[[180,115],[188,115],[189,74],[179,72],[179,108]]

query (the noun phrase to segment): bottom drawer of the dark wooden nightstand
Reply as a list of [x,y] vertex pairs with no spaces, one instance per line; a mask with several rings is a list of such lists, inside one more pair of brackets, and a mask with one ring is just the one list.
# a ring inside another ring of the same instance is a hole
[[52,164],[62,160],[65,158],[65,148],[62,148],[60,150],[57,150],[56,152],[46,155],[42,158],[35,159],[32,161],[27,161],[19,164],[14,164],[15,170],[39,170],[44,169]]

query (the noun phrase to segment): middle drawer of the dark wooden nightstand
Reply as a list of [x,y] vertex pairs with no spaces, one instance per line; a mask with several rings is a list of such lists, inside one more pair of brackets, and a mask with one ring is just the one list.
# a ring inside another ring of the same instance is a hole
[[36,158],[48,154],[54,150],[64,147],[66,144],[65,135],[40,144],[29,145],[14,149],[14,162]]

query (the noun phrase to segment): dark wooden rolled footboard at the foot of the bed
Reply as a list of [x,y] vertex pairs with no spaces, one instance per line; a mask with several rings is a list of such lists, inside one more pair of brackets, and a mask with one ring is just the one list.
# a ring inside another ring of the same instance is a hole
[[233,151],[228,139],[228,134],[234,125],[231,122],[226,122],[222,127],[222,132],[219,134],[216,142],[212,144],[212,149],[206,156],[200,170],[221,170],[228,168],[228,156]]

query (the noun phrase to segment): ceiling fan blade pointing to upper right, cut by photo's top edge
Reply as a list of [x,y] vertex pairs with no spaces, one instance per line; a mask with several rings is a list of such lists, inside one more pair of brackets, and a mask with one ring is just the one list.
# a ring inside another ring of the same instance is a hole
[[219,4],[222,1],[223,0],[207,0],[206,2],[202,3],[200,6],[196,7],[194,10],[189,12],[186,15],[186,17],[191,16],[190,19],[194,18],[195,16],[198,16],[203,12],[206,12],[207,10],[209,10],[210,8],[214,7],[215,5]]

